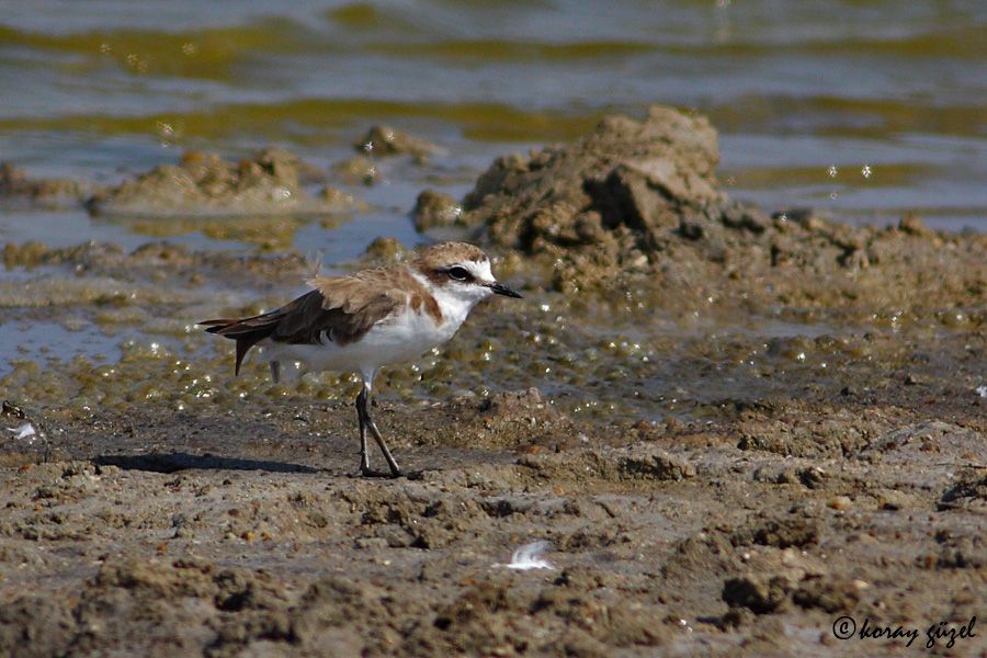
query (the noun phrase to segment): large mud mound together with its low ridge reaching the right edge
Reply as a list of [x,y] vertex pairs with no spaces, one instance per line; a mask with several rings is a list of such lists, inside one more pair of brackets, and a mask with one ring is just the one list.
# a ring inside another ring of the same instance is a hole
[[935,234],[914,215],[887,229],[769,216],[719,190],[718,157],[704,117],[662,106],[640,122],[611,116],[571,145],[496,160],[463,219],[552,263],[561,291],[647,281],[662,306],[742,297],[871,313],[983,300],[985,236]]

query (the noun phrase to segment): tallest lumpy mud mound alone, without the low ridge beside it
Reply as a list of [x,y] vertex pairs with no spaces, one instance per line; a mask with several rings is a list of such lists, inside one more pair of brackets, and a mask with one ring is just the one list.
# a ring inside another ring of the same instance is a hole
[[527,252],[593,248],[610,262],[658,250],[681,219],[718,218],[716,131],[702,117],[653,107],[639,123],[604,118],[567,147],[497,159],[466,195],[492,239]]

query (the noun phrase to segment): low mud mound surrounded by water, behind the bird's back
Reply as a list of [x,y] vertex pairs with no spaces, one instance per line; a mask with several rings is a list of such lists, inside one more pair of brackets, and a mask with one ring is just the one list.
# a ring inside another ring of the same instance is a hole
[[100,215],[224,216],[324,214],[350,209],[353,200],[330,188],[303,188],[325,172],[294,154],[263,149],[239,162],[188,151],[178,164],[158,167],[94,194],[87,206]]

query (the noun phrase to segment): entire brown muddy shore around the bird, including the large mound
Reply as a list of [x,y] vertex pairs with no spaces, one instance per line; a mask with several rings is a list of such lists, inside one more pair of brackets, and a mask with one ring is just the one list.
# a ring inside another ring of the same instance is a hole
[[525,298],[382,374],[396,480],[355,476],[354,378],[235,378],[194,327],[317,263],[8,245],[0,654],[871,656],[916,649],[837,617],[983,617],[984,237],[772,216],[716,159],[655,109],[420,201]]

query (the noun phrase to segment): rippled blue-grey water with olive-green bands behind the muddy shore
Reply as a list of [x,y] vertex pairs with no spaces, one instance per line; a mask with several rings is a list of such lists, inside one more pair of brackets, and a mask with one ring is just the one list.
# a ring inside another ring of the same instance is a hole
[[[105,184],[174,162],[185,148],[236,158],[272,144],[329,168],[376,123],[443,147],[426,167],[378,160],[381,182],[342,185],[368,209],[333,220],[268,219],[250,234],[222,220],[124,222],[9,205],[0,206],[0,242],[131,250],[163,238],[243,251],[273,242],[320,256],[331,270],[378,236],[430,239],[408,217],[423,188],[462,196],[499,155],[574,138],[609,112],[640,116],[656,102],[710,116],[721,132],[719,178],[737,198],[881,225],[914,209],[934,228],[983,231],[985,23],[987,5],[975,0],[835,2],[826,11],[770,0],[605,9],[585,0],[0,0],[0,84],[16,90],[0,100],[0,159],[33,175]],[[277,237],[258,239],[264,230]],[[0,281],[29,275],[11,269]],[[16,324],[24,313],[4,314],[0,365],[25,340]],[[673,325],[638,331],[668,337],[680,331]],[[727,332],[767,340],[831,330],[772,320]],[[95,338],[72,340],[48,322],[35,336],[118,355],[118,338],[86,331]],[[674,373],[655,373],[645,384],[669,388]],[[547,378],[541,385],[556,389]]]

